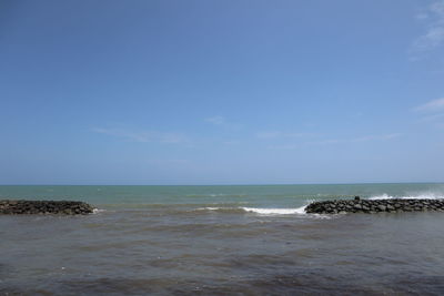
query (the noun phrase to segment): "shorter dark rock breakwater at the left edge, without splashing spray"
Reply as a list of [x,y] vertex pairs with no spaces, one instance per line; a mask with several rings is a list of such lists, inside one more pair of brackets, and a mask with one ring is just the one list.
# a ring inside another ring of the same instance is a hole
[[61,214],[85,215],[93,207],[83,202],[68,201],[0,201],[0,215],[19,214]]

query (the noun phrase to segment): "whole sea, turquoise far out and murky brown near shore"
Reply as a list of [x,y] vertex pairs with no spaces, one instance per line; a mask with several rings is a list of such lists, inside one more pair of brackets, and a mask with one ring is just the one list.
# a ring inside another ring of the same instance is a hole
[[0,295],[442,295],[444,213],[309,215],[444,184],[0,186],[88,216],[0,216]]

